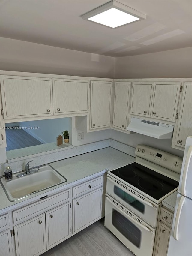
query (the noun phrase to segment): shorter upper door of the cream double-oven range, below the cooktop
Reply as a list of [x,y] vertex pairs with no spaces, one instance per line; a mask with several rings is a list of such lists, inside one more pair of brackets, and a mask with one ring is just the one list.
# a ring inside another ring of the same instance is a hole
[[122,182],[107,175],[107,194],[116,198],[152,227],[157,227],[159,205]]

